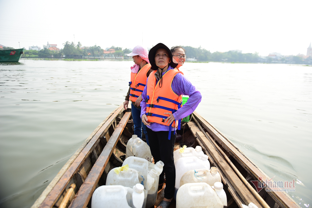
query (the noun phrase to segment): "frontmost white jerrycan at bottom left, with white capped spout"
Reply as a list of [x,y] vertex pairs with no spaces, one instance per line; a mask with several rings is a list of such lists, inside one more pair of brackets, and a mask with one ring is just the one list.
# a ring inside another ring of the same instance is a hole
[[136,184],[133,188],[121,185],[100,186],[92,194],[92,208],[142,208],[144,202],[144,187]]

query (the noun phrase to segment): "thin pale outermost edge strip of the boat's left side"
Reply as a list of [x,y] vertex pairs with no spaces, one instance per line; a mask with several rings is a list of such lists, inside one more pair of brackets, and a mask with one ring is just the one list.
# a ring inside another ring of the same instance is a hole
[[[120,106],[123,106],[121,104]],[[45,188],[45,190],[41,193],[41,195],[38,197],[38,199],[35,201],[35,203],[32,205],[31,208],[38,208],[42,201],[46,198],[46,196],[50,193],[50,191],[53,189],[55,184],[60,180],[60,178],[64,175],[66,170],[69,168],[69,166],[74,162],[74,160],[77,158],[77,156],[80,154],[82,149],[85,148],[85,146],[88,144],[90,139],[95,135],[95,133],[103,126],[103,124],[116,112],[119,111],[120,106],[117,107],[113,112],[110,113],[109,116],[105,118],[104,121],[98,125],[95,130],[90,134],[90,136],[82,143],[79,147],[79,149],[69,158],[69,160],[65,163],[65,165],[61,168],[61,170],[57,173],[56,177],[53,178],[53,180],[49,183],[49,185]]]

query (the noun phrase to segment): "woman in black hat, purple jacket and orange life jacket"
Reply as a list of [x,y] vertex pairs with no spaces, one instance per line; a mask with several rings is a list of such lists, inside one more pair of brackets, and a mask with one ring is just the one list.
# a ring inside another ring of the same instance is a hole
[[[175,192],[175,166],[173,147],[175,130],[179,129],[182,118],[190,115],[201,101],[201,94],[196,87],[183,76],[182,72],[174,70],[177,63],[172,58],[169,48],[158,43],[149,51],[151,69],[141,102],[141,118],[147,127],[149,146],[155,163],[164,163],[163,173],[159,176],[159,184],[166,175],[166,188],[163,201],[158,207],[170,205]],[[188,95],[188,102],[180,107],[181,95]]]

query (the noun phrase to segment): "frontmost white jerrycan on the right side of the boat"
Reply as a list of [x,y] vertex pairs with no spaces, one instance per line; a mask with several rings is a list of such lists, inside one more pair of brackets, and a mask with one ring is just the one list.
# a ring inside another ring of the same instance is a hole
[[212,187],[209,186],[207,183],[184,184],[178,190],[176,201],[177,208],[194,208],[194,207],[223,208],[223,206],[227,206],[227,203],[226,205],[222,203],[222,201],[227,201],[227,199],[226,198],[220,199],[216,191],[214,191]]

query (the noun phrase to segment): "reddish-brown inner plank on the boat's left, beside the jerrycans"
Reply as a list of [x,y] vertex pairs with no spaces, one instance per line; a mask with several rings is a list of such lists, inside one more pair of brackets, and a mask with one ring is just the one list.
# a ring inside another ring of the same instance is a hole
[[116,144],[120,138],[122,131],[131,115],[131,112],[126,112],[124,117],[121,119],[119,124],[117,125],[114,133],[110,137],[110,140],[105,145],[102,153],[100,154],[99,158],[97,159],[96,163],[92,167],[89,175],[83,182],[82,186],[80,187],[78,193],[76,194],[74,200],[71,202],[71,208],[85,208],[90,201],[90,198],[98,184],[100,177],[103,174],[103,171],[112,155]]

